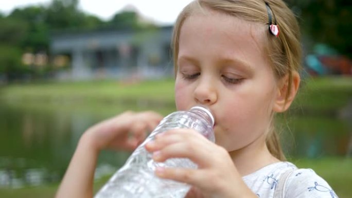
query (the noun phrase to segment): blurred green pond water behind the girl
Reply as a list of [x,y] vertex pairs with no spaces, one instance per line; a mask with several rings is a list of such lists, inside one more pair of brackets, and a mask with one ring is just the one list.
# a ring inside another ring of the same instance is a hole
[[[94,106],[94,105],[93,105]],[[0,188],[21,188],[60,181],[81,134],[94,123],[126,110],[152,109],[163,115],[174,106],[116,105],[76,107],[69,104],[0,104]],[[351,125],[336,116],[279,118],[289,157],[346,155]],[[286,126],[289,122],[290,129]],[[115,172],[129,156],[104,151],[96,178]]]

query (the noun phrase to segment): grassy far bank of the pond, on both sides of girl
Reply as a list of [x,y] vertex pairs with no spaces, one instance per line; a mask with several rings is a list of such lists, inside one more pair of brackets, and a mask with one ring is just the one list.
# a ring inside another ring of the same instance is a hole
[[[143,82],[117,82],[113,80],[89,82],[49,82],[10,84],[0,87],[3,102],[47,104],[91,103],[149,103],[173,105],[174,80],[162,79]],[[352,78],[307,78],[292,109],[330,112],[352,102]]]

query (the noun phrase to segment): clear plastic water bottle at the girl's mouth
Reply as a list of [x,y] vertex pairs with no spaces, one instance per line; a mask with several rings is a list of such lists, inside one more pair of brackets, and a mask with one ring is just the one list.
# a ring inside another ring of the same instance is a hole
[[95,195],[95,198],[181,198],[185,197],[190,186],[185,183],[162,179],[154,174],[156,167],[197,168],[187,158],[170,158],[157,163],[145,149],[147,142],[156,134],[170,129],[189,128],[215,142],[213,131],[214,117],[204,106],[194,106],[189,111],[177,111],[166,116],[155,130],[139,145],[120,168]]

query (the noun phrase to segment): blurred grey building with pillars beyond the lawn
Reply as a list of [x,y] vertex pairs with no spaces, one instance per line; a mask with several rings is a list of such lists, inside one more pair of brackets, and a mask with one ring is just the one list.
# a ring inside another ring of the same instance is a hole
[[147,31],[94,30],[52,35],[58,79],[157,78],[172,75],[172,26]]

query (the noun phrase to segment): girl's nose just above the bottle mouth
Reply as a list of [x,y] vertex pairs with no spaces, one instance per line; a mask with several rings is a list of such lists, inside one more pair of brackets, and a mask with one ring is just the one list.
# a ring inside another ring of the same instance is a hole
[[197,103],[207,105],[215,103],[218,97],[215,84],[212,84],[210,81],[200,81],[193,95]]

